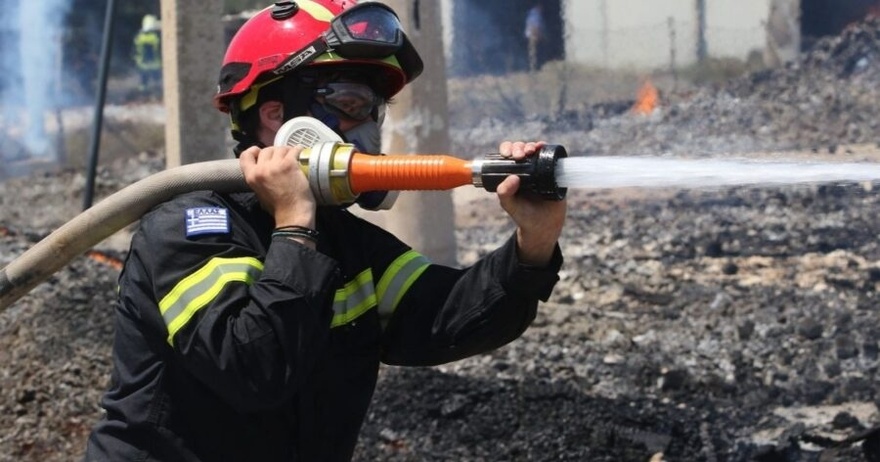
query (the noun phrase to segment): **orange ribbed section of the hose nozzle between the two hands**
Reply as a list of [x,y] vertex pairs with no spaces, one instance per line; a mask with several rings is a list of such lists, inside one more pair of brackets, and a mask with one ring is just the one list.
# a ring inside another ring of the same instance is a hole
[[473,184],[472,163],[447,155],[354,153],[349,167],[352,192],[447,190]]

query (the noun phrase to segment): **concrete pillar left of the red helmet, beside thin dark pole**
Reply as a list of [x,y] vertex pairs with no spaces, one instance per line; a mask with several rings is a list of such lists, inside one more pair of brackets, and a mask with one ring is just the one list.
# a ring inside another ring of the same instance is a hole
[[161,0],[165,166],[224,159],[227,118],[211,105],[223,62],[223,2]]

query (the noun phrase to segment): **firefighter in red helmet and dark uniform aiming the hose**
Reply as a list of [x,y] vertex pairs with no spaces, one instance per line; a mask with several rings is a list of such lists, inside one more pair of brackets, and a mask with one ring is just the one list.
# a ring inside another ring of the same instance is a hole
[[[345,207],[317,206],[302,148],[272,146],[304,114],[342,136],[373,132],[422,71],[392,10],[353,4],[277,2],[230,43],[214,102],[253,192],[187,193],[141,219],[85,460],[350,460],[381,363],[499,348],[551,294],[564,201],[517,195],[507,178],[498,197],[516,231],[474,265],[445,267]],[[370,107],[336,104],[341,86]]]

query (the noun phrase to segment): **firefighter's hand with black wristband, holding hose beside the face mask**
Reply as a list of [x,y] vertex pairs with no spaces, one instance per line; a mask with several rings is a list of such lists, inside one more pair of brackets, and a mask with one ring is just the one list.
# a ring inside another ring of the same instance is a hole
[[300,146],[250,147],[238,158],[245,182],[263,208],[275,217],[275,226],[315,228],[315,196],[299,167]]

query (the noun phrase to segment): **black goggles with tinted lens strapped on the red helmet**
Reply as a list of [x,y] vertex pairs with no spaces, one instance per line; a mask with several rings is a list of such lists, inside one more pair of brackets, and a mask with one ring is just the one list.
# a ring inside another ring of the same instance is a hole
[[418,76],[424,67],[413,48],[400,19],[388,5],[359,3],[330,20],[330,28],[298,53],[284,60],[273,71],[286,74],[332,51],[346,59],[398,58],[407,80]]

